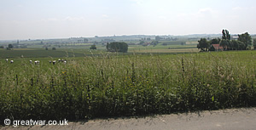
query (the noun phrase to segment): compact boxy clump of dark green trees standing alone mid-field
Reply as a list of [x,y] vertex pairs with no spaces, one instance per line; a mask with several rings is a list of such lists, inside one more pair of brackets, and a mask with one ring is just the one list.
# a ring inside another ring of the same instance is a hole
[[107,43],[107,51],[108,52],[122,52],[127,53],[128,44],[125,42],[111,42]]

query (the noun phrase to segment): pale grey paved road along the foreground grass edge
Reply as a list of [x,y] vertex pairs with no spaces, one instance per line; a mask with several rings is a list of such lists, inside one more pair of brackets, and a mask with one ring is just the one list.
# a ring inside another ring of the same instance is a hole
[[85,129],[85,130],[256,130],[256,108],[212,110],[193,113],[68,122],[68,126],[0,127],[0,129]]

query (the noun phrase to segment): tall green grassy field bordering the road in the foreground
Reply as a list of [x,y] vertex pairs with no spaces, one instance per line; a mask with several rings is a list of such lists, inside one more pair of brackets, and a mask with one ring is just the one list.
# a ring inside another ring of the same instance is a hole
[[1,59],[1,120],[79,120],[256,105],[256,51],[105,53],[49,64],[53,59],[14,58],[13,64]]

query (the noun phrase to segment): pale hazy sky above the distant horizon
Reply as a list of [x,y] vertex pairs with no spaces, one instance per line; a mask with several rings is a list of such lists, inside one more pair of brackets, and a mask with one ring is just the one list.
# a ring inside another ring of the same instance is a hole
[[255,0],[0,0],[0,40],[256,33]]

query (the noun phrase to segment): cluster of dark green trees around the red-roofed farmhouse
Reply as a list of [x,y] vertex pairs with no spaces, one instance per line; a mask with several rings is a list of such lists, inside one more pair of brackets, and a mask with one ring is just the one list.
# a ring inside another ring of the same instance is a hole
[[248,32],[238,35],[237,40],[231,40],[230,32],[227,30],[222,31],[222,39],[214,38],[210,41],[207,41],[206,38],[201,38],[198,41],[197,48],[201,51],[214,51],[215,48],[212,44],[219,44],[224,50],[246,50],[251,48],[252,42],[253,47],[256,48],[256,40],[252,40],[252,37]]

